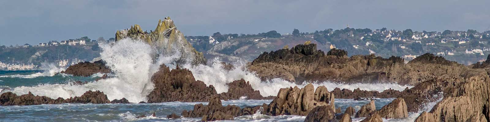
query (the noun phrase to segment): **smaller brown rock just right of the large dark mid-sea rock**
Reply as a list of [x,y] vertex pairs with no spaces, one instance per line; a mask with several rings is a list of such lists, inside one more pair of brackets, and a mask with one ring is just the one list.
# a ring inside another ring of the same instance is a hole
[[252,100],[263,100],[263,99],[271,99],[273,97],[265,98],[260,95],[260,91],[254,90],[250,85],[250,82],[245,81],[244,79],[233,81],[227,83],[229,86],[228,92],[223,92],[220,94],[221,100],[237,100],[242,96],[247,96],[246,99]]

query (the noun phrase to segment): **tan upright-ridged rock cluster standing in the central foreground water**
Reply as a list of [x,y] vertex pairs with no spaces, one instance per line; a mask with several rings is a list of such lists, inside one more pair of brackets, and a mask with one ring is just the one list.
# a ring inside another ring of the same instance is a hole
[[310,83],[301,89],[281,88],[276,98],[265,107],[267,109],[264,109],[264,113],[270,116],[306,116],[316,106],[330,105],[334,110],[334,102],[333,93],[329,93],[325,86],[319,86],[315,91],[315,87]]

